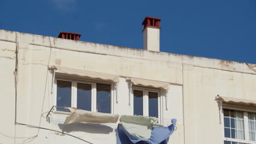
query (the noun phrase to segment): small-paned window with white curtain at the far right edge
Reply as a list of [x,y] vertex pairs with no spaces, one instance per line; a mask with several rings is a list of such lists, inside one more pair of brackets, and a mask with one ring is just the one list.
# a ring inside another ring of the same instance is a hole
[[256,143],[256,113],[223,109],[224,144]]

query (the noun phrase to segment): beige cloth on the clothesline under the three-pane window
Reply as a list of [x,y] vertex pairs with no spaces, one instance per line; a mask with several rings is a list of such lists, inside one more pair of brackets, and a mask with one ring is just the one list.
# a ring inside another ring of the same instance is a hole
[[111,113],[91,112],[67,107],[71,111],[64,124],[75,122],[117,123],[119,115]]

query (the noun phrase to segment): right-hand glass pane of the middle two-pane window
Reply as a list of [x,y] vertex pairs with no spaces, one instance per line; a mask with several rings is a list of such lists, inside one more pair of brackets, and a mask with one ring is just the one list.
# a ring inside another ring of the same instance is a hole
[[158,117],[158,93],[148,92],[149,117]]

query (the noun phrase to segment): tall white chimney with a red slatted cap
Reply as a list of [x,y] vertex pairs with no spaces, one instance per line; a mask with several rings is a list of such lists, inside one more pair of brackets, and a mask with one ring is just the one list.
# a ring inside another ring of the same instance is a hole
[[150,51],[160,51],[160,21],[155,17],[145,17],[142,25],[144,25],[143,48]]

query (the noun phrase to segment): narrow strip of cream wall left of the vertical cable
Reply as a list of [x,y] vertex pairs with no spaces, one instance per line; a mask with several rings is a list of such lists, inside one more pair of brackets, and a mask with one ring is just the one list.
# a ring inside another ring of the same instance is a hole
[[15,51],[16,44],[0,41],[0,143],[14,143],[15,119]]

